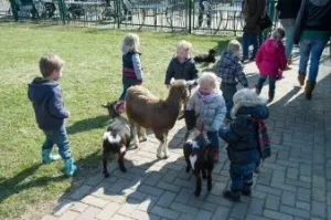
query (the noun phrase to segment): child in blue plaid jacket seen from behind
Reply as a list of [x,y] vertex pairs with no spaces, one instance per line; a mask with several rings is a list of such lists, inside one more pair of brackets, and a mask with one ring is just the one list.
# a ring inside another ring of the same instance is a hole
[[229,112],[233,106],[233,96],[237,92],[238,82],[248,87],[248,82],[244,73],[239,55],[242,45],[237,40],[228,43],[227,51],[223,53],[216,64],[216,75],[222,78],[221,90],[226,104],[226,117],[231,119]]

